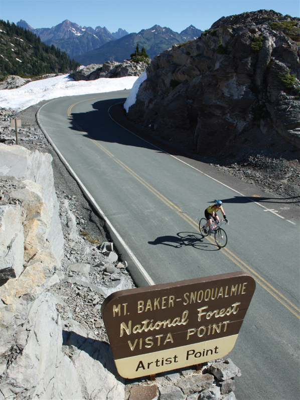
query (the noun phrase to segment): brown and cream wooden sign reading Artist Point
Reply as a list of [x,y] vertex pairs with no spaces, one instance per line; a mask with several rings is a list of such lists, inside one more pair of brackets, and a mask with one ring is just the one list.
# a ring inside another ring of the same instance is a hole
[[254,290],[250,275],[234,272],[112,293],[101,312],[119,374],[136,378],[224,357]]

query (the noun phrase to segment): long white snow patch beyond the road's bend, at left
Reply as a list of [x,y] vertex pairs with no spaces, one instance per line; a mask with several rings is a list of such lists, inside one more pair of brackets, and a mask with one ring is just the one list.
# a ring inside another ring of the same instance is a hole
[[58,97],[108,93],[131,89],[135,81],[140,77],[99,78],[94,81],[74,81],[68,75],[60,75],[58,77],[30,82],[16,89],[0,90],[0,103],[3,108],[12,108],[19,112],[41,101],[56,99]]

